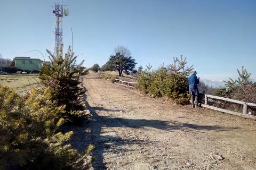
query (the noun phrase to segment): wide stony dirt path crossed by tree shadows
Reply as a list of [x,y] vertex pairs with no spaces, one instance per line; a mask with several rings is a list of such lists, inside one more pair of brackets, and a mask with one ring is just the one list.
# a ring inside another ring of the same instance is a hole
[[94,143],[94,169],[256,169],[255,121],[191,109],[103,80],[83,79],[92,117],[71,143]]

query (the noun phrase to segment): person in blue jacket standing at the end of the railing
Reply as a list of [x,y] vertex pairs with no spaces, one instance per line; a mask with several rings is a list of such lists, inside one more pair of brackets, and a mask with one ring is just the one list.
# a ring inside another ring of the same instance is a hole
[[[192,107],[195,108],[198,105],[198,95],[199,95],[199,91],[197,89],[197,84],[199,84],[199,79],[197,79],[196,77],[196,71],[194,71],[192,73],[192,75],[190,75],[190,77],[188,78],[188,82],[189,82],[189,93],[191,95],[191,103],[192,103]],[[194,104],[195,101],[195,104]]]

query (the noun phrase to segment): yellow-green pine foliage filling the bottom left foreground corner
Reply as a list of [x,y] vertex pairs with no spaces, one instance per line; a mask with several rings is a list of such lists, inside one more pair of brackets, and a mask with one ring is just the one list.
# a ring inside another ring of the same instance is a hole
[[0,169],[87,169],[85,157],[65,144],[73,132],[55,133],[65,106],[55,106],[49,88],[20,96],[0,87]]

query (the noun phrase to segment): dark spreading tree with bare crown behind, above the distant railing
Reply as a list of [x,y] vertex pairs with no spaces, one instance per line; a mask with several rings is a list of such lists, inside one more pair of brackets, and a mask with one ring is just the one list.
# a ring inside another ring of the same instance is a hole
[[131,52],[124,46],[118,46],[115,48],[115,55],[110,55],[109,61],[102,66],[103,71],[115,71],[117,70],[119,76],[123,76],[123,72],[135,73],[136,66],[135,59],[132,58]]

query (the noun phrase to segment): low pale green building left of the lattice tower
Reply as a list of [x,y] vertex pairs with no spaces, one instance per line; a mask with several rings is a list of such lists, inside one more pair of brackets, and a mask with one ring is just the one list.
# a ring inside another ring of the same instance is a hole
[[15,57],[15,67],[21,70],[38,70],[42,67],[43,61],[38,58],[30,58],[30,57]]

